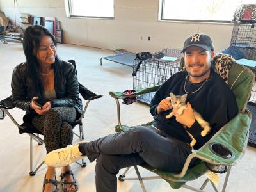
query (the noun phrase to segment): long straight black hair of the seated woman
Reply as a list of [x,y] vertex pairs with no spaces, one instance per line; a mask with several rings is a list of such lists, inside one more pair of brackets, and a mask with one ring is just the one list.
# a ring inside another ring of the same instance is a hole
[[[28,74],[33,80],[33,84],[37,90],[38,97],[40,100],[44,99],[44,88],[42,86],[42,81],[40,79],[40,72],[39,72],[39,63],[36,58],[36,52],[38,51],[42,36],[50,36],[54,45],[56,46],[56,40],[54,36],[43,26],[35,25],[29,26],[26,31],[24,32],[24,39],[23,39],[23,50],[26,56],[27,65],[28,65]],[[60,67],[61,67],[61,60],[58,56],[55,57],[55,62],[52,65],[54,69],[54,79],[61,81],[60,76]]]

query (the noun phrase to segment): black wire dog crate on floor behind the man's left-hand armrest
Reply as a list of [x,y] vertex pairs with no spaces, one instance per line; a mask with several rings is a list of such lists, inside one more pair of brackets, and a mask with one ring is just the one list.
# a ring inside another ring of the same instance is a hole
[[[182,54],[179,49],[163,49],[152,54],[153,58],[142,61],[140,68],[133,77],[133,88],[145,88],[161,85],[170,76],[179,72]],[[140,60],[134,59],[134,68]],[[136,98],[138,102],[150,104],[156,92],[146,93]]]

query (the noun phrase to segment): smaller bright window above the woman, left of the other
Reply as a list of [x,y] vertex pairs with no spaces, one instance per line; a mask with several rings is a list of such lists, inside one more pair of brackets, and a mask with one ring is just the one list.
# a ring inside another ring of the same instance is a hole
[[114,18],[114,0],[68,0],[70,17]]

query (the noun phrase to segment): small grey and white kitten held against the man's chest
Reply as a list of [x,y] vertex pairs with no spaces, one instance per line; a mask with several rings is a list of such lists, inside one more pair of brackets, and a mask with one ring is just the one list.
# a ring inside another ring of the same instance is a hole
[[[182,115],[183,111],[185,109],[187,109],[187,104],[185,102],[186,99],[187,99],[187,94],[184,94],[184,95],[180,96],[180,95],[174,95],[173,93],[170,93],[170,95],[171,95],[171,103],[172,103],[173,108],[178,109],[179,115]],[[204,129],[201,132],[201,136],[204,137],[209,131],[211,131],[211,127],[210,127],[209,123],[206,122],[198,112],[193,110],[193,113],[194,113],[194,116],[195,116],[195,120]],[[173,116],[173,112],[166,115],[165,118],[171,118],[172,116]],[[184,127],[185,127],[185,125],[184,125]],[[193,136],[188,131],[186,131],[186,132],[188,133],[188,135],[192,139],[192,141],[189,145],[191,147],[193,147],[196,144],[196,140],[195,140],[195,138],[193,138]]]

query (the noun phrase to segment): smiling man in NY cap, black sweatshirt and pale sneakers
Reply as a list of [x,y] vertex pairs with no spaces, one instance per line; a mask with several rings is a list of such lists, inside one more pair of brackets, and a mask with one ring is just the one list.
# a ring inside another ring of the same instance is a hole
[[[211,38],[204,34],[190,36],[184,42],[182,52],[186,71],[170,77],[157,90],[150,104],[150,113],[156,120],[153,126],[136,126],[92,142],[54,150],[47,154],[45,163],[65,166],[83,156],[90,161],[97,159],[97,191],[116,191],[116,174],[127,166],[148,163],[168,172],[182,170],[192,150],[188,132],[196,139],[193,148],[198,149],[238,111],[233,93],[211,68],[214,57]],[[170,92],[188,94],[188,109],[182,115],[172,108]],[[195,120],[192,106],[211,125],[211,131],[204,137],[200,134],[202,127]],[[166,119],[172,109],[175,116]]]

